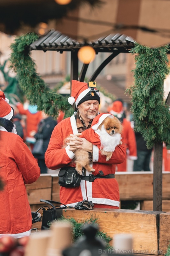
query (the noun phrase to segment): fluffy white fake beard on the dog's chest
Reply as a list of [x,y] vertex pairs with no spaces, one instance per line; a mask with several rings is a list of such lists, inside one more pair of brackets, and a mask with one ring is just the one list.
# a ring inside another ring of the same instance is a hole
[[120,133],[115,133],[112,136],[110,136],[105,130],[104,124],[101,126],[101,130],[97,129],[97,131],[95,132],[100,137],[101,148],[104,151],[115,151],[115,147],[120,144],[120,140],[122,139]]

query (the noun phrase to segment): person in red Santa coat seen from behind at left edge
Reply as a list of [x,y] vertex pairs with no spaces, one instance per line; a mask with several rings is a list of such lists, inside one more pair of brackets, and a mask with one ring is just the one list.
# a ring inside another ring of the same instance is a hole
[[4,188],[0,191],[0,237],[29,236],[32,227],[31,209],[25,184],[31,184],[40,176],[40,168],[29,148],[17,135],[12,123],[13,108],[0,91],[0,179]]

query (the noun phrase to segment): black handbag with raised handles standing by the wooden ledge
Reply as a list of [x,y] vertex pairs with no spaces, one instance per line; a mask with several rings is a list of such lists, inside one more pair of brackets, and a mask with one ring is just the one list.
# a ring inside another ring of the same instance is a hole
[[[58,218],[60,218],[63,215],[63,209],[69,208],[65,204],[63,204],[64,207],[61,207],[59,205],[54,206],[53,204],[62,204],[62,203],[56,202],[56,201],[40,199],[40,202],[44,202],[44,203],[52,206],[52,208],[50,208],[47,205],[42,206],[34,213],[33,221],[34,222],[38,222],[38,221],[42,222],[41,230],[48,229],[50,222],[52,222],[53,220],[58,220]],[[43,210],[41,217],[39,217],[38,219],[35,219],[35,217],[37,216],[37,212],[39,212],[41,209]]]

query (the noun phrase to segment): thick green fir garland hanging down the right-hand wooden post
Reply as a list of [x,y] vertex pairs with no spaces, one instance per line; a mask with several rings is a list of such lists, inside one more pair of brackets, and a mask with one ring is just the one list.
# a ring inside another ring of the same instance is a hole
[[170,149],[170,112],[163,103],[163,82],[169,74],[167,51],[167,46],[151,49],[140,44],[131,50],[135,83],[126,92],[131,97],[135,131],[143,135],[147,148],[165,142]]

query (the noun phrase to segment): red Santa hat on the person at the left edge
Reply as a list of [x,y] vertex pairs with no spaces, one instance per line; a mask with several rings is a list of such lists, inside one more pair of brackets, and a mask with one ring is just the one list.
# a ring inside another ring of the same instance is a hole
[[0,117],[11,120],[14,110],[9,105],[9,100],[5,98],[4,92],[0,91]]

